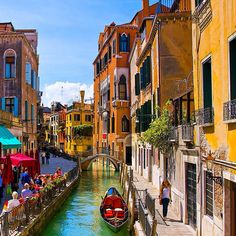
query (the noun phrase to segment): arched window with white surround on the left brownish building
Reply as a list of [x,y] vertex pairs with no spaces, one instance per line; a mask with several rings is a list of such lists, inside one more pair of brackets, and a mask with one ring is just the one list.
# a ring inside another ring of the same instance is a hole
[[16,52],[13,49],[7,49],[4,53],[4,71],[6,79],[16,77]]

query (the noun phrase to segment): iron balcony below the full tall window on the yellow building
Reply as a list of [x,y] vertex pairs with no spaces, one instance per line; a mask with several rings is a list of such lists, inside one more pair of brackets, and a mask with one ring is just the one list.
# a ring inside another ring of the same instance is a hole
[[214,123],[214,110],[212,107],[202,108],[195,112],[196,122],[200,126],[212,126]]

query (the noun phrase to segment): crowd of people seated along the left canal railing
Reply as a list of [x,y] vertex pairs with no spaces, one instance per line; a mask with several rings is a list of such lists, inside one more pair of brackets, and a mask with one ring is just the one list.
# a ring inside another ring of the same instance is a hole
[[[39,196],[40,191],[54,179],[63,175],[62,170],[58,167],[53,175],[36,174],[34,178],[30,176],[28,168],[20,173],[18,185],[12,185],[12,199],[6,201],[3,212],[10,212],[14,207],[19,206],[27,198]],[[2,187],[1,187],[2,186]],[[0,170],[0,194],[3,192],[2,176]]]

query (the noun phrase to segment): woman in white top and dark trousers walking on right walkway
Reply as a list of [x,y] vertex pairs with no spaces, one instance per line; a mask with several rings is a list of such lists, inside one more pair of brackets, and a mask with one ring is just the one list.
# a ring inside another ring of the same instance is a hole
[[163,205],[163,219],[166,220],[168,213],[168,205],[171,201],[171,184],[167,179],[165,179],[161,184],[159,198]]

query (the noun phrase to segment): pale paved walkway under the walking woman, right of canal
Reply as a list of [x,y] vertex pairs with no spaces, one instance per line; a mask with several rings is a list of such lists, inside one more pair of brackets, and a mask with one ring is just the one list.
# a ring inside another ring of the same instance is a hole
[[166,221],[162,218],[162,206],[159,204],[158,189],[151,183],[140,176],[137,172],[134,172],[134,184],[137,189],[144,190],[147,189],[150,195],[156,199],[156,217],[157,217],[157,234],[158,236],[193,236],[194,231],[190,226],[185,225],[178,219],[174,211],[172,210],[171,204],[169,205],[168,218]]

